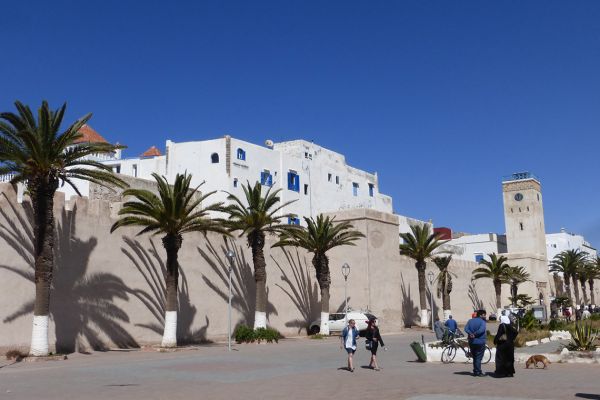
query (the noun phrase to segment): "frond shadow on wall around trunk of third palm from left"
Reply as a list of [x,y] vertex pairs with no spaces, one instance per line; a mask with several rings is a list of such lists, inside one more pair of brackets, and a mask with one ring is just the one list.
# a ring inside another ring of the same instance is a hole
[[[206,251],[198,247],[198,252],[217,276],[217,280],[215,281],[214,278],[204,274],[202,274],[202,280],[225,303],[228,302],[229,296],[229,261],[225,254],[230,249],[235,252],[231,278],[231,307],[242,315],[236,325],[252,326],[254,324],[256,285],[254,284],[254,272],[246,261],[243,247],[236,246],[233,241],[228,241],[226,238],[223,238],[223,244],[219,245],[218,249],[208,237],[204,242],[206,243]],[[267,319],[271,314],[278,315],[277,309],[269,301],[269,289],[267,288]]]

